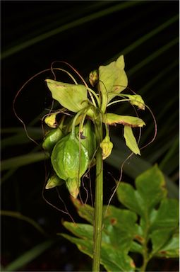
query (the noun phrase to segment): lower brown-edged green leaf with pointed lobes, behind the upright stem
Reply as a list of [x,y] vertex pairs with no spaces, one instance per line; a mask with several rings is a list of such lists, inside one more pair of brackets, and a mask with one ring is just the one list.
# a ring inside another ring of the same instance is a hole
[[[93,208],[81,205],[79,200],[73,200],[79,215],[91,222],[92,225],[64,222],[64,227],[79,238],[61,234],[78,246],[78,249],[92,258],[93,252]],[[134,271],[133,260],[128,251],[136,234],[137,216],[129,210],[121,210],[113,206],[104,206],[104,222],[102,229],[101,263],[107,271]],[[123,224],[122,224],[123,222]],[[117,239],[118,237],[118,239]],[[114,254],[116,252],[116,254]]]

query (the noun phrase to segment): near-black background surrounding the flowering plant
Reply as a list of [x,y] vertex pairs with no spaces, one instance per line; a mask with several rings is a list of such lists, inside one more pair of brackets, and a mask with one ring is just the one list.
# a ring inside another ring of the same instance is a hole
[[[119,8],[127,3],[129,6],[126,8]],[[106,15],[103,15],[104,11],[107,11]],[[11,130],[18,127],[23,133],[23,126],[14,115],[12,104],[18,89],[32,75],[50,68],[55,60],[64,60],[87,78],[92,69],[124,54],[128,86],[142,94],[157,118],[157,139],[142,152],[142,157],[150,164],[163,162],[162,171],[169,176],[170,185],[173,184],[172,188],[176,191],[179,168],[176,144],[179,138],[179,42],[175,39],[179,38],[179,22],[174,21],[137,47],[134,42],[178,14],[179,1],[1,1],[1,159],[27,154],[35,148],[31,142],[16,142]],[[61,32],[47,35],[63,26]],[[47,35],[47,38],[40,38],[41,35]],[[52,78],[52,75],[47,72],[37,77],[18,96],[16,113],[25,124],[49,106],[50,96],[44,84],[46,77]],[[114,108],[116,113],[124,114],[126,110]],[[145,113],[142,118],[149,125],[142,138],[142,142],[147,142],[153,135],[152,118]],[[7,132],[8,128],[11,133]],[[40,118],[37,118],[35,128],[40,128]],[[122,132],[112,132],[114,137],[119,137],[119,134],[121,136]],[[114,157],[111,158],[111,162],[105,164],[105,181],[111,179],[109,172],[114,176],[119,174]],[[13,165],[10,170],[13,170]],[[131,182],[133,176],[128,172],[126,169],[124,179]],[[3,172],[4,175],[7,172]],[[2,180],[3,210],[18,211],[34,219],[51,238],[55,239],[56,232],[65,232],[61,220],[69,220],[69,217],[47,205],[41,196],[44,162],[22,166]],[[109,188],[107,186],[107,191]],[[80,220],[66,190],[63,196],[74,219]],[[107,192],[105,196],[108,196]],[[49,192],[47,198],[64,209],[56,193]],[[44,236],[28,223],[11,217],[2,219],[2,266],[44,241]],[[171,259],[156,260],[150,263],[148,269],[177,271],[177,265]],[[21,271],[88,271],[90,266],[87,256],[61,238]]]

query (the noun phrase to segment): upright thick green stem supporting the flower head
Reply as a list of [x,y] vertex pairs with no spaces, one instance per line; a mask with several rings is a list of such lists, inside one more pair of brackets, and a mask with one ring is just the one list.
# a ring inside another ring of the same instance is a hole
[[103,162],[102,149],[100,142],[102,142],[102,122],[96,120],[95,135],[97,140],[97,154],[96,154],[96,181],[95,181],[95,222],[94,222],[94,251],[92,261],[92,271],[100,271],[100,252],[102,239],[102,207],[103,207]]

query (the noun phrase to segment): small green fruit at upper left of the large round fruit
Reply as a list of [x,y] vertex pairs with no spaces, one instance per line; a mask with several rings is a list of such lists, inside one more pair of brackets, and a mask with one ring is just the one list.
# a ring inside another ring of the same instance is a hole
[[63,136],[64,133],[60,128],[51,130],[44,138],[44,142],[42,143],[43,149],[51,154],[54,145],[56,145],[56,142],[58,142]]

